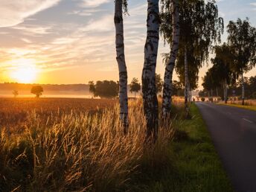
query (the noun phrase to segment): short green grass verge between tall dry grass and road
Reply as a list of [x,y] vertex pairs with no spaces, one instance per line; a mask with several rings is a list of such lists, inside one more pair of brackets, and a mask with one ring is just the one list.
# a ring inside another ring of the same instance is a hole
[[155,173],[145,191],[233,191],[195,104],[191,105],[191,115],[191,120],[174,125],[172,166]]

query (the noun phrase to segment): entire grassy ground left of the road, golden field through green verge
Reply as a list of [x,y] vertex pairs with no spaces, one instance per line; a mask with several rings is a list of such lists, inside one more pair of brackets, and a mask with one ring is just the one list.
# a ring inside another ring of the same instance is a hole
[[[141,100],[0,99],[0,191],[231,191],[195,105],[146,142]],[[216,185],[220,184],[220,185]]]

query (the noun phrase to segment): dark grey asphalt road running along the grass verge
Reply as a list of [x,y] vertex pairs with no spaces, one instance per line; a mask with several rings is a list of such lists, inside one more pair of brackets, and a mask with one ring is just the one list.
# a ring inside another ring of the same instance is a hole
[[214,103],[196,105],[235,190],[256,192],[256,112]]

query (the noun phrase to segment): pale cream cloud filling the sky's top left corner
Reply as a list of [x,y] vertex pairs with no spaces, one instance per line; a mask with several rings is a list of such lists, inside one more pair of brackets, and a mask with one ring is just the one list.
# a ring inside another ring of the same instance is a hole
[[11,27],[24,22],[28,16],[48,9],[61,0],[1,0],[0,28]]

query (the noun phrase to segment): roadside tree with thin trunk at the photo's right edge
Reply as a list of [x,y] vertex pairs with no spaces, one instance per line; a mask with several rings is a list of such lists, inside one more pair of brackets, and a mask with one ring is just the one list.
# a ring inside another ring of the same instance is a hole
[[256,65],[256,28],[253,28],[249,19],[228,24],[228,45],[234,54],[234,63],[231,69],[241,77],[242,100],[244,105],[245,89],[243,74],[250,71]]

